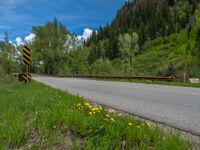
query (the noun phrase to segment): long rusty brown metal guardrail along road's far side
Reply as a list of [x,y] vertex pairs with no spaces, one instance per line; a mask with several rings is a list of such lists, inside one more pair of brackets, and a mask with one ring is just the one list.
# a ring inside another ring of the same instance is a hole
[[111,79],[111,80],[151,80],[151,81],[168,81],[172,82],[177,79],[176,76],[169,76],[169,77],[127,77],[127,76],[81,76],[81,75],[75,75],[75,76],[59,76],[59,77],[71,77],[71,78],[89,78],[89,79]]

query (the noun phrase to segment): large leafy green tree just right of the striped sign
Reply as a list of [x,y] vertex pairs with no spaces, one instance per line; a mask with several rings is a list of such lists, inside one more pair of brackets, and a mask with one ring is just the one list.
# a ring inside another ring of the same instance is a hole
[[53,22],[33,27],[32,30],[36,35],[33,50],[39,55],[38,61],[44,65],[44,73],[59,74],[69,49],[69,33],[66,27],[54,18]]

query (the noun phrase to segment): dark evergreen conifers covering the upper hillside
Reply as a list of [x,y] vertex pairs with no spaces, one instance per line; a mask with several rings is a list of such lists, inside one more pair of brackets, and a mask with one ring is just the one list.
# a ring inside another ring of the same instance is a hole
[[[120,56],[120,34],[136,32],[139,46],[157,37],[179,33],[194,22],[195,0],[136,0],[126,2],[110,25],[100,27],[86,42],[93,47],[90,62],[102,56]],[[105,49],[105,50],[103,50]]]

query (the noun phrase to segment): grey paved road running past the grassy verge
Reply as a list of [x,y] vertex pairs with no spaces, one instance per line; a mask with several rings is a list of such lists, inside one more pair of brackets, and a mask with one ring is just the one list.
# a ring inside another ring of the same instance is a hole
[[200,136],[200,89],[34,76],[52,87]]

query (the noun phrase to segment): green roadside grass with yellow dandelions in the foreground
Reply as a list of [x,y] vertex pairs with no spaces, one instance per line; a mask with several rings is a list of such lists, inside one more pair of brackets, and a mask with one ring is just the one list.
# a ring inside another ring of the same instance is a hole
[[33,81],[0,83],[0,149],[192,149],[176,133],[100,107]]

